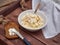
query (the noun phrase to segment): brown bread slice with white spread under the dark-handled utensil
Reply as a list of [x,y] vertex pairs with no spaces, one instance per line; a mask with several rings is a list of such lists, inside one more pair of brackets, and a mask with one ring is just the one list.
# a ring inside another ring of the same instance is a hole
[[18,36],[16,34],[15,35],[9,34],[10,28],[15,28],[17,31],[19,31],[18,24],[16,24],[15,22],[9,22],[8,24],[5,25],[5,36],[9,39],[18,38]]

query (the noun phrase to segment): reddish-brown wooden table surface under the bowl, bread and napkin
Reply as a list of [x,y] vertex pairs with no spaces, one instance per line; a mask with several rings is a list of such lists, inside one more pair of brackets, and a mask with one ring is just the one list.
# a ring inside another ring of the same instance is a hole
[[[27,6],[27,8],[31,9],[31,0],[28,0],[26,3],[29,4]],[[17,22],[17,17],[18,15],[22,12],[21,7],[16,8],[15,10],[11,11],[9,14],[7,14],[6,18],[16,22]],[[21,39],[13,39],[13,40],[9,40],[7,38],[5,38],[4,36],[4,29],[3,29],[3,25],[0,24],[0,39],[2,39],[2,37],[4,38],[3,41],[7,40],[8,41],[8,45],[25,45],[25,43],[21,40]],[[53,37],[51,39],[45,39],[42,31],[37,31],[37,32],[29,32],[26,29],[23,29],[20,26],[20,33],[26,37],[26,39],[32,44],[32,45],[60,45],[60,34],[58,34],[56,37]],[[2,44],[2,43],[0,43]]]

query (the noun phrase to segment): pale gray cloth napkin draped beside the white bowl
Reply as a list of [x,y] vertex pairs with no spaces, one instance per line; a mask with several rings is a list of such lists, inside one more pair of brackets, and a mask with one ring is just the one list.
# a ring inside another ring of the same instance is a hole
[[45,38],[52,38],[60,33],[60,12],[51,0],[32,0],[33,10],[38,3],[42,4],[40,11],[43,11],[48,17],[48,24],[42,29],[43,35]]

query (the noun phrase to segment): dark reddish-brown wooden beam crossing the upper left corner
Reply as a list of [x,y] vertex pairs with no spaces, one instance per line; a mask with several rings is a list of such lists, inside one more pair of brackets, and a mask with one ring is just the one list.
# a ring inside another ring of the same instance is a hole
[[19,2],[20,2],[20,0],[17,0],[8,6],[0,8],[0,15],[5,16],[6,14],[10,13],[11,11],[13,11],[17,7],[19,7]]

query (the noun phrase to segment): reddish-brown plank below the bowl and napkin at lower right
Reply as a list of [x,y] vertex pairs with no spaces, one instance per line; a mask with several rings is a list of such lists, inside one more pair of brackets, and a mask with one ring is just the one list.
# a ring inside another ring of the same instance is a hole
[[42,31],[38,31],[35,33],[29,32],[29,34],[32,35],[33,37],[35,37],[36,39],[40,40],[41,42],[43,42],[46,45],[60,45],[60,40],[59,40],[60,34],[51,39],[45,39],[42,34]]

